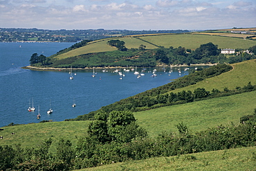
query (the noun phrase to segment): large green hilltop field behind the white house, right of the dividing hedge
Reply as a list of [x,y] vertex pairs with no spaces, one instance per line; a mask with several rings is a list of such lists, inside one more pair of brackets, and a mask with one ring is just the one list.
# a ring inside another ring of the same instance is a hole
[[248,39],[239,39],[235,37],[221,37],[202,34],[166,34],[156,36],[143,36],[140,37],[145,41],[149,41],[158,46],[169,48],[170,46],[178,48],[179,46],[195,50],[201,44],[212,42],[218,45],[218,48],[242,48],[247,49],[255,46],[256,41]]

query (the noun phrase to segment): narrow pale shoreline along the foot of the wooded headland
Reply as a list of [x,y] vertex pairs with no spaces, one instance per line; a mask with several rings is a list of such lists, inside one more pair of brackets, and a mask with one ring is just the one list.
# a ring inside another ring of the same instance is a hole
[[[197,64],[190,64],[190,66],[216,66],[218,63],[197,63]],[[177,68],[177,67],[190,67],[188,65],[158,65],[156,67],[171,67],[171,68]],[[26,70],[44,70],[44,71],[62,71],[62,70],[70,70],[70,68],[41,68],[41,67],[36,67],[36,66],[24,66],[21,67],[22,69]],[[116,67],[116,66],[109,66],[109,67],[93,67],[96,70],[97,69],[116,69],[116,68],[127,68],[127,67]],[[73,68],[74,70],[92,70],[93,68]],[[134,68],[134,67],[129,67],[129,68]]]

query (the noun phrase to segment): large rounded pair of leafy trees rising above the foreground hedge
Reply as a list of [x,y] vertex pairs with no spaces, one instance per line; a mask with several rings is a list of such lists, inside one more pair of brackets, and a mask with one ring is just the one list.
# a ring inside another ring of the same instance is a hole
[[116,141],[127,143],[136,137],[143,138],[147,132],[136,124],[134,114],[129,111],[113,110],[109,113],[99,112],[89,125],[89,137],[100,143]]

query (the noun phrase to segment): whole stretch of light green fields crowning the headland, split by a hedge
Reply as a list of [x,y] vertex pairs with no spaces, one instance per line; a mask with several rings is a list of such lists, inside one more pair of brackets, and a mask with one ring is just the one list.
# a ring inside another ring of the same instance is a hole
[[[242,48],[247,49],[256,45],[256,41],[249,39],[239,39],[235,37],[221,37],[221,36],[211,36],[203,34],[163,34],[163,35],[143,35],[137,36],[139,39],[136,39],[134,36],[131,37],[111,37],[107,39],[101,39],[97,41],[92,41],[88,43],[87,46],[71,50],[64,54],[57,55],[55,58],[64,59],[67,57],[74,57],[80,54],[88,54],[94,52],[107,52],[117,50],[107,44],[107,41],[111,39],[119,39],[120,41],[125,41],[125,46],[127,48],[138,48],[140,45],[145,45],[147,49],[158,48],[156,46],[164,46],[169,48],[173,46],[178,48],[182,46],[187,49],[195,50],[199,48],[201,44],[212,42],[215,45],[218,45],[218,48]],[[142,39],[142,40],[140,40]],[[144,40],[144,41],[143,41]],[[149,42],[149,43],[148,43]],[[156,45],[152,45],[152,44]]]

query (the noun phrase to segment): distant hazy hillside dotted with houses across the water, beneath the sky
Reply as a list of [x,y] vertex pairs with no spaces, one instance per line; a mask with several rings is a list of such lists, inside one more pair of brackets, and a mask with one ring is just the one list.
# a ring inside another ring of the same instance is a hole
[[51,41],[77,42],[84,39],[97,40],[134,34],[181,33],[189,30],[44,30],[37,28],[0,28],[0,42]]

